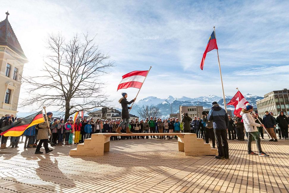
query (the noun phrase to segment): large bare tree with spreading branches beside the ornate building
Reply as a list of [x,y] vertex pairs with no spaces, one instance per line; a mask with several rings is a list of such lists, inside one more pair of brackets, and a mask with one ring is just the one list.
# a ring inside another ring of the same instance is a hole
[[93,41],[87,34],[82,38],[75,35],[69,41],[61,34],[49,35],[51,54],[44,60],[43,75],[22,77],[23,83],[29,85],[29,98],[24,99],[22,107],[52,106],[65,112],[66,120],[77,111],[91,112],[106,106],[109,100],[100,79],[109,73],[113,62]]

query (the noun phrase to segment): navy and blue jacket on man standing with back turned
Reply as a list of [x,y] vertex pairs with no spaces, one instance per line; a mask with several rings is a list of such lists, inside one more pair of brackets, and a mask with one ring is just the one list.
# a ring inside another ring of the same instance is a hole
[[213,121],[213,128],[217,130],[226,130],[229,126],[227,112],[217,105],[209,111],[209,121]]

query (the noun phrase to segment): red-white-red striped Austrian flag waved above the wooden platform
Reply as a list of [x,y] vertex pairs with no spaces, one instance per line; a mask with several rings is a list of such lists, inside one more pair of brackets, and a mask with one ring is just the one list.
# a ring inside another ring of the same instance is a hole
[[117,90],[129,87],[141,88],[148,72],[149,72],[148,70],[132,71],[128,74],[123,75],[122,80],[120,81],[120,84],[117,87]]

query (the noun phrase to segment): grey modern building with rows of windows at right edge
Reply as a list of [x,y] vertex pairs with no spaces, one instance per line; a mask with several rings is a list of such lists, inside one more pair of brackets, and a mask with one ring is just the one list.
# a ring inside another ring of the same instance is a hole
[[284,115],[289,114],[289,95],[287,88],[279,91],[272,91],[264,95],[264,99],[256,102],[259,116],[265,115],[265,111],[273,113],[273,116],[278,116],[280,111]]

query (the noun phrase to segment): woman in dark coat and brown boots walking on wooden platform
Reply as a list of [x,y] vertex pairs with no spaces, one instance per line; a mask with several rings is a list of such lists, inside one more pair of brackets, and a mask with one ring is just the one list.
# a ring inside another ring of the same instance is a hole
[[128,109],[131,109],[131,107],[128,107],[128,105],[130,105],[131,103],[133,103],[134,101],[136,101],[136,98],[134,98],[133,100],[131,100],[130,102],[127,101],[127,97],[128,94],[126,93],[122,93],[122,98],[118,101],[121,104],[121,118],[122,118],[122,122],[120,123],[120,125],[117,127],[117,130],[115,131],[116,133],[121,133],[120,132],[120,128],[123,124],[125,124],[126,126],[126,133],[132,133],[129,130],[128,124],[129,124],[129,113],[128,113]]

